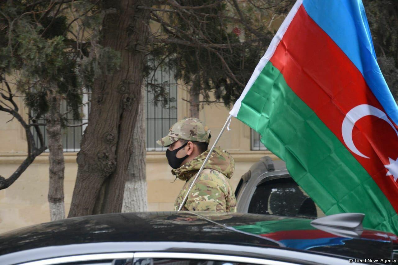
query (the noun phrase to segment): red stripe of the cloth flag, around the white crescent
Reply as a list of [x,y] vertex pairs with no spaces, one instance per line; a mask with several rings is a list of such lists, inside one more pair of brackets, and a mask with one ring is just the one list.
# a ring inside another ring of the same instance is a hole
[[[271,62],[281,71],[295,94],[347,149],[341,125],[348,111],[358,105],[369,104],[385,113],[361,72],[308,16],[303,6],[293,18]],[[365,116],[355,123],[352,138],[357,149],[369,158],[352,151],[351,154],[398,212],[398,185],[392,176],[386,176],[388,170],[385,168],[390,164],[389,158],[396,160],[398,157],[398,136],[394,129],[382,119]]]

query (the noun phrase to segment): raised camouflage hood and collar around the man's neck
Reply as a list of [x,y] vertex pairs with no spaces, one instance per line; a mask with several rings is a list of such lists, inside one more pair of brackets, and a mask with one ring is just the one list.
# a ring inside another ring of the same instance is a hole
[[[203,152],[186,164],[183,164],[181,167],[172,170],[172,174],[181,180],[186,181],[190,179],[200,169],[208,153],[209,150]],[[215,147],[209,160],[207,160],[205,168],[217,170],[230,179],[234,174],[235,162],[226,150],[221,149],[220,147]]]

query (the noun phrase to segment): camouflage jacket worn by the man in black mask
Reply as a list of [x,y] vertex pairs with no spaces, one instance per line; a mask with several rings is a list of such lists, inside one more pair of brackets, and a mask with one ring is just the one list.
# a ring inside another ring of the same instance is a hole
[[[186,181],[176,199],[174,210],[178,210],[181,205],[208,152],[203,152],[183,166],[172,170],[173,175]],[[226,150],[215,148],[182,210],[236,212],[236,198],[229,182],[234,170],[232,156]]]

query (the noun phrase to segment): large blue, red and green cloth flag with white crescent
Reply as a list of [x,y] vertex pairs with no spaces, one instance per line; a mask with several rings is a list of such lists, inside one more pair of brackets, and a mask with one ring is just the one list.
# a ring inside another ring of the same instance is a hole
[[361,0],[298,0],[230,114],[325,214],[398,234],[398,107]]

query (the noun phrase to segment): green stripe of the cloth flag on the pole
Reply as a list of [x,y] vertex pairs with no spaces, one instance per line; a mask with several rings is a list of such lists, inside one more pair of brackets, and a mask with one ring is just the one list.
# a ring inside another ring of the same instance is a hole
[[375,181],[271,62],[242,100],[237,118],[261,134],[325,214],[362,212],[365,227],[398,234],[398,216]]

